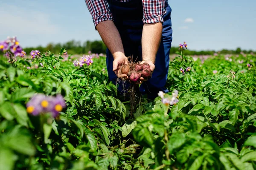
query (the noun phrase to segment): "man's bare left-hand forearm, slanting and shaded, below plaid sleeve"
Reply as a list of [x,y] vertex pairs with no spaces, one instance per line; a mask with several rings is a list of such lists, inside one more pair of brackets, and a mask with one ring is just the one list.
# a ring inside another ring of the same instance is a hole
[[125,55],[120,34],[113,21],[102,21],[96,26],[96,28],[114,58],[120,55]]

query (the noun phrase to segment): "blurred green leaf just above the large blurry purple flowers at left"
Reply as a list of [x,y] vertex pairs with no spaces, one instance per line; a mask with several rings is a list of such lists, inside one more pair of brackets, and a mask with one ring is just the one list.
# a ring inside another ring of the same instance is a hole
[[29,88],[18,88],[12,94],[12,102],[24,101],[35,94],[35,91]]

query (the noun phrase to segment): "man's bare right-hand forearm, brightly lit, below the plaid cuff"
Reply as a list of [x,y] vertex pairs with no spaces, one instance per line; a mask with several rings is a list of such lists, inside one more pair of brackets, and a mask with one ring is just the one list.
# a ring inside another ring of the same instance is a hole
[[144,24],[142,32],[142,57],[150,59],[153,63],[161,42],[162,23]]

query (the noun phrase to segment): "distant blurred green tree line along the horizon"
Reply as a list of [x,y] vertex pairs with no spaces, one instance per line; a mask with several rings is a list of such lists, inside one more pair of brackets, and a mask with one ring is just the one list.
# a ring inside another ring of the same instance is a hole
[[[23,48],[23,50],[29,54],[30,51],[32,50],[39,50],[39,51],[51,51],[52,53],[59,53],[61,48],[66,48],[68,51],[68,54],[87,54],[89,51],[91,51],[91,53],[103,53],[105,54],[106,51],[106,46],[105,44],[101,41],[101,40],[96,40],[96,41],[86,41],[86,42],[81,42],[81,41],[75,41],[75,40],[71,40],[68,41],[66,43],[49,43],[47,46],[43,47],[43,46],[37,46],[37,47],[27,47],[27,48]],[[170,54],[175,54],[177,53],[177,51],[179,51],[179,47],[175,47],[173,46],[170,50]],[[241,48],[236,48],[235,50],[227,50],[227,49],[223,49],[221,51],[193,51],[193,50],[185,50],[184,54],[185,55],[213,55],[215,53],[220,53],[220,54],[240,54],[241,52],[243,52],[244,54],[250,54],[250,53],[255,53],[256,51],[252,51],[252,50],[242,50]],[[0,51],[1,53],[1,51]],[[3,52],[2,52],[3,54]]]

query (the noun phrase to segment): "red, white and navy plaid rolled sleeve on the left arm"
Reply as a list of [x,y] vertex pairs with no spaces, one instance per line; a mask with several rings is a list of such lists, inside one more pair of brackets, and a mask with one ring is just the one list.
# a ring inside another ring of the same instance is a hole
[[85,3],[93,18],[95,29],[100,22],[113,20],[113,16],[108,8],[106,0],[85,0]]

